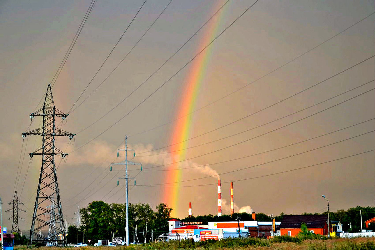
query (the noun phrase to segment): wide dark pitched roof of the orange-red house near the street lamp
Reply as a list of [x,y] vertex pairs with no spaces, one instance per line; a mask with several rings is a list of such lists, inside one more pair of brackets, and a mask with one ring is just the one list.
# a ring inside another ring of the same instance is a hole
[[308,228],[323,228],[327,223],[326,215],[285,215],[280,223],[280,228],[301,228],[306,223]]

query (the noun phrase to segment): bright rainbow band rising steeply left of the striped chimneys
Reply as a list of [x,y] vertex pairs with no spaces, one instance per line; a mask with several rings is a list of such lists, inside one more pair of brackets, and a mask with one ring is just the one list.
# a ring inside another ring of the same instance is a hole
[[[221,6],[219,6],[221,7]],[[217,6],[214,8],[214,12],[218,9]],[[208,22],[208,30],[199,42],[198,51],[201,51],[208,43],[210,43],[217,35],[217,30],[219,28],[220,19],[223,17],[223,10],[220,10],[211,20]],[[188,142],[185,141],[191,136],[193,129],[192,117],[186,114],[194,111],[196,105],[196,99],[198,98],[199,89],[202,85],[202,81],[206,75],[206,69],[210,61],[212,53],[212,45],[208,46],[201,54],[198,55],[193,61],[187,73],[187,77],[184,80],[183,96],[181,98],[180,104],[177,106],[176,117],[182,117],[178,119],[173,128],[172,136],[170,138],[170,143],[173,145],[171,151],[176,151],[171,153],[173,163],[169,165],[169,169],[178,168],[177,161],[185,159],[184,151],[177,151],[188,146]],[[185,141],[185,142],[182,142]],[[178,143],[182,142],[182,143]],[[181,180],[182,171],[167,171],[166,183],[171,183]],[[178,188],[177,187],[166,187],[164,190],[163,201],[166,202],[168,207],[173,208],[172,216],[176,216],[178,208]]]

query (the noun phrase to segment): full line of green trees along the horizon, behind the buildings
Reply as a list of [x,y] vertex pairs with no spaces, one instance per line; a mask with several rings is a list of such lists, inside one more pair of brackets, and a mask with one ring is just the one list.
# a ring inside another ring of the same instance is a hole
[[[330,220],[339,220],[344,231],[359,232],[360,213],[362,210],[363,228],[365,221],[375,217],[375,207],[356,207],[348,210],[338,210],[330,212]],[[111,240],[112,237],[122,237],[125,234],[125,205],[124,204],[108,204],[103,201],[94,201],[86,208],[81,208],[81,228],[74,225],[68,228],[68,243],[86,242],[91,240],[91,244],[97,243],[98,240]],[[132,242],[134,235],[137,236],[140,243],[149,242],[151,235],[157,238],[160,234],[168,232],[168,220],[171,218],[172,208],[166,204],[160,203],[156,206],[156,210],[149,204],[129,204],[129,240]],[[308,213],[304,213],[308,214]],[[310,213],[311,214],[311,213]],[[318,214],[318,213],[316,213]],[[323,213],[323,214],[327,214]],[[276,221],[281,221],[283,216],[275,216]],[[252,215],[248,213],[234,213],[233,215],[213,216],[208,214],[205,216],[192,216],[184,219],[178,219],[183,222],[202,222],[207,225],[210,221],[235,221],[237,217],[241,220],[252,220]],[[263,213],[257,213],[258,221],[272,221],[270,216]],[[350,229],[351,225],[351,229]],[[137,233],[135,232],[137,231]]]

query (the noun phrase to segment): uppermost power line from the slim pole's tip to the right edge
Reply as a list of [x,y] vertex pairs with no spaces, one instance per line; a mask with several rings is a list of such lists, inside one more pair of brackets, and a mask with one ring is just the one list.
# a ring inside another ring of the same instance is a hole
[[142,131],[142,132],[135,133],[135,134],[133,134],[133,135],[130,135],[129,137],[132,137],[132,136],[135,136],[135,135],[140,135],[140,134],[142,134],[142,133],[146,133],[146,132],[148,132],[148,131],[151,131],[151,130],[157,129],[157,128],[159,128],[159,127],[162,127],[162,126],[168,125],[168,124],[170,124],[170,123],[172,123],[172,122],[174,122],[174,121],[180,120],[181,118],[186,117],[187,115],[191,115],[191,114],[193,114],[193,113],[196,112],[196,111],[199,111],[199,110],[201,110],[201,109],[203,109],[203,108],[206,108],[206,107],[208,107],[208,106],[210,106],[210,105],[212,105],[212,104],[214,104],[214,103],[216,103],[216,102],[218,102],[218,101],[220,101],[220,100],[222,100],[222,99],[224,99],[224,98],[226,98],[226,97],[228,97],[228,96],[230,96],[230,95],[232,95],[232,94],[234,94],[234,93],[236,93],[236,92],[238,92],[238,91],[240,91],[240,90],[242,90],[243,88],[248,87],[249,85],[253,84],[254,82],[257,82],[257,81],[259,81],[260,79],[262,79],[262,78],[264,78],[264,77],[266,77],[266,76],[272,74],[272,73],[275,72],[276,70],[281,69],[282,67],[286,66],[287,64],[289,64],[289,63],[291,63],[291,62],[297,60],[298,58],[302,57],[303,55],[307,54],[308,52],[310,52],[310,51],[316,49],[317,47],[321,46],[323,43],[326,43],[326,42],[328,42],[329,40],[333,39],[334,37],[338,36],[339,34],[341,34],[341,33],[345,32],[345,31],[347,31],[348,29],[350,29],[350,28],[353,27],[354,25],[358,24],[359,22],[362,22],[363,20],[365,20],[365,19],[368,18],[369,16],[373,15],[374,13],[375,13],[375,12],[371,13],[370,15],[366,16],[365,18],[361,19],[360,21],[356,22],[355,24],[351,25],[350,27],[346,28],[345,30],[342,30],[341,32],[337,33],[335,36],[332,36],[332,37],[330,37],[329,39],[325,40],[324,42],[321,42],[320,44],[318,44],[318,45],[315,46],[314,48],[309,49],[308,51],[306,51],[306,52],[304,52],[303,54],[301,54],[301,55],[295,57],[294,59],[288,61],[287,63],[282,64],[281,66],[277,67],[276,69],[272,70],[271,72],[267,73],[266,75],[263,75],[263,76],[261,76],[260,78],[254,80],[254,81],[252,81],[252,82],[249,82],[248,84],[245,84],[244,86],[238,88],[237,90],[234,90],[234,91],[232,91],[231,93],[226,94],[226,95],[223,96],[223,97],[220,97],[219,99],[215,100],[214,102],[208,103],[207,105],[204,105],[204,106],[202,106],[201,108],[198,108],[198,109],[196,109],[196,110],[194,110],[194,111],[192,111],[192,112],[189,112],[189,113],[187,113],[187,114],[185,114],[185,115],[183,115],[183,116],[181,116],[181,117],[178,117],[178,118],[176,118],[176,119],[174,119],[174,120],[168,121],[167,123],[164,123],[164,124],[158,125],[158,126],[153,127],[153,128],[151,128],[151,129],[144,130],[144,131]]

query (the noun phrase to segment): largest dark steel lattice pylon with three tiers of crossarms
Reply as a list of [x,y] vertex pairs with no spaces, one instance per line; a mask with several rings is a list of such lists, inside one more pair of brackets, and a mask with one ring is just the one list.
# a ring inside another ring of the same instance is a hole
[[[55,156],[65,157],[68,154],[63,153],[61,150],[55,148],[55,137],[69,136],[69,139],[72,139],[75,134],[68,133],[62,129],[55,127],[55,117],[62,117],[62,119],[65,120],[68,115],[55,108],[50,84],[48,84],[47,87],[43,107],[38,111],[30,114],[31,119],[33,119],[34,116],[41,116],[43,118],[43,127],[31,130],[26,133],[22,133],[23,138],[25,138],[27,135],[42,136],[42,147],[34,151],[33,153],[30,153],[30,157],[33,157],[34,155],[42,156],[42,167],[40,168],[39,184],[36,193],[28,246],[30,247],[33,241],[44,241],[47,244],[56,242],[55,238],[60,234],[62,235],[62,239],[57,240],[57,243],[66,246],[66,230],[60,200],[60,192],[57,184]],[[47,206],[50,204],[54,205],[53,209],[47,208]],[[55,210],[57,211],[55,212]],[[50,215],[54,213],[55,219],[53,220],[53,222],[45,220],[45,213]],[[40,223],[40,225],[37,227],[35,227],[36,222]],[[55,231],[54,234],[48,235],[48,238],[43,239],[43,235],[40,235],[39,229],[42,229],[46,226],[51,226],[55,229]]]

